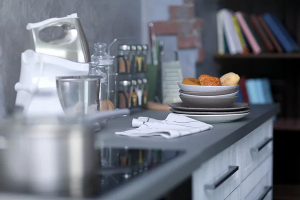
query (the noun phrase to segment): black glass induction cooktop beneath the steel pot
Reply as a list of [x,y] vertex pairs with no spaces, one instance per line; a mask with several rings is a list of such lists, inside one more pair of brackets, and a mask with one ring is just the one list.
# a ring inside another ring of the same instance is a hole
[[[51,193],[46,196],[71,198],[79,195],[80,198],[88,199],[100,197],[134,180],[136,177],[146,175],[183,153],[179,150],[102,147],[97,149],[99,170],[93,178],[92,184],[88,184],[92,185],[91,187],[83,188],[79,194],[77,194],[77,190],[69,190],[55,192],[55,194]],[[35,194],[31,192],[17,193],[20,195]],[[72,193],[75,193],[75,196]]]

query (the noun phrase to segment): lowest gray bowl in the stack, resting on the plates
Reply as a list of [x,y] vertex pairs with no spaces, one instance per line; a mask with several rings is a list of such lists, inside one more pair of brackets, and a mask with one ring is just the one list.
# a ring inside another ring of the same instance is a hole
[[181,96],[179,95],[185,106],[193,106],[193,107],[230,107],[237,99],[236,96],[228,96],[228,97],[193,97],[193,96]]

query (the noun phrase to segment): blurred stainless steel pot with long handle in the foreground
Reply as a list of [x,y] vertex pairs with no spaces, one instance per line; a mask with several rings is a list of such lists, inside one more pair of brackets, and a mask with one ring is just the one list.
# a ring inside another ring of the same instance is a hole
[[98,170],[93,123],[124,114],[129,110],[0,121],[0,189],[73,197],[92,193]]

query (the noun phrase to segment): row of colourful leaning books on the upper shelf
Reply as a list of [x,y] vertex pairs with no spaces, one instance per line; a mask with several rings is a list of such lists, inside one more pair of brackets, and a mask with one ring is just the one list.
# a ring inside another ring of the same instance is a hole
[[278,17],[222,8],[216,13],[218,54],[300,52],[300,46]]

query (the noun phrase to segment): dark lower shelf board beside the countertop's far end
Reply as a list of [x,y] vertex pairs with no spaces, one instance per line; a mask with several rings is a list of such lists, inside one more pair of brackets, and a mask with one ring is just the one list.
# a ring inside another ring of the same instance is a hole
[[300,118],[278,118],[274,130],[300,131]]

